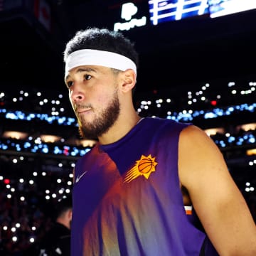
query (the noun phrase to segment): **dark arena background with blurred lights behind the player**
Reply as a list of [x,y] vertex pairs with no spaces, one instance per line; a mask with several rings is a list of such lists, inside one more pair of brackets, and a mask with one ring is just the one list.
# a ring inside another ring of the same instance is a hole
[[205,129],[255,218],[255,6],[211,18],[209,6],[198,15],[201,4],[211,1],[194,1],[198,8],[191,16],[153,25],[149,2],[178,3],[0,1],[1,255],[35,255],[52,225],[52,206],[71,194],[75,161],[95,144],[78,136],[63,82],[65,43],[88,26],[125,28],[140,58],[138,112]]

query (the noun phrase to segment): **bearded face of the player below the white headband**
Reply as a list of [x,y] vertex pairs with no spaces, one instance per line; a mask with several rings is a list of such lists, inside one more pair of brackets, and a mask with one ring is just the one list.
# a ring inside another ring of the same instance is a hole
[[86,65],[70,70],[66,84],[80,135],[101,137],[119,117],[117,76],[110,68]]

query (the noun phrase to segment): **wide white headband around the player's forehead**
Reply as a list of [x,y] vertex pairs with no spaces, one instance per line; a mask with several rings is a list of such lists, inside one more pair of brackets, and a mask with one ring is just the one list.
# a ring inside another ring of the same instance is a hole
[[68,55],[65,61],[65,77],[68,75],[69,70],[80,65],[101,65],[122,71],[131,68],[137,74],[135,63],[124,55],[105,50],[83,49],[76,50]]

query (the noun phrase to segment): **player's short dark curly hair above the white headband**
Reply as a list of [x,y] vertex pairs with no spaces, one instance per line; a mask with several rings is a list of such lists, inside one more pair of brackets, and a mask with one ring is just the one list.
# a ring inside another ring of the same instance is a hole
[[64,61],[70,53],[76,50],[92,49],[106,50],[112,53],[119,53],[131,59],[138,68],[139,57],[134,48],[134,43],[117,31],[110,31],[107,28],[87,28],[75,33],[75,36],[68,41],[64,50]]

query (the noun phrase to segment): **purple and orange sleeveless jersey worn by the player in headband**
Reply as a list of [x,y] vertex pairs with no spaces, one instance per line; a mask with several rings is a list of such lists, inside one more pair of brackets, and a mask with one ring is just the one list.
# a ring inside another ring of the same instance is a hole
[[218,255],[196,214],[183,206],[178,137],[187,126],[146,117],[78,161],[72,256]]

